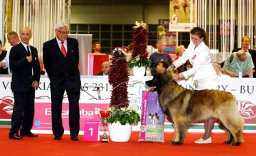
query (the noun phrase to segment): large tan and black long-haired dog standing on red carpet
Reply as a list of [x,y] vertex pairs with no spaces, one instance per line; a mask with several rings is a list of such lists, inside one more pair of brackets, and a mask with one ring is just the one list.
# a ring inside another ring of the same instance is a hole
[[174,122],[174,140],[171,145],[181,145],[190,123],[216,118],[228,133],[223,143],[240,145],[244,140],[244,120],[240,116],[237,100],[228,91],[191,90],[181,87],[171,79],[173,74],[155,74],[146,81],[148,87],[156,87],[163,112]]

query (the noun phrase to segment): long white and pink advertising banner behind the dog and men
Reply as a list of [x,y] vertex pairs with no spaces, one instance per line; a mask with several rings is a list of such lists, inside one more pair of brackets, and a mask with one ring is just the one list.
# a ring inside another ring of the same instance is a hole
[[[139,114],[142,113],[142,91],[146,90],[145,81],[152,77],[129,77],[128,96],[129,104],[137,109]],[[112,87],[108,83],[105,76],[81,76],[81,94],[80,94],[80,118],[82,120],[99,121],[97,115],[99,108],[106,108],[110,104],[110,95]],[[192,82],[179,82],[187,89],[193,89]],[[256,132],[256,79],[250,78],[229,78],[219,79],[218,88],[220,90],[229,91],[238,99],[238,107],[240,114],[245,119],[245,132]],[[11,77],[0,77],[0,125],[10,126],[11,114],[14,106],[14,97],[11,92]],[[42,105],[44,105],[42,107]],[[63,100],[63,109],[65,104],[68,104],[68,97],[65,94]],[[36,90],[36,114],[33,129],[36,130],[43,123],[42,116],[50,114],[50,82],[47,76],[41,77],[40,84]],[[45,108],[48,107],[48,108]],[[43,111],[42,111],[43,109]],[[42,114],[40,114],[42,113]],[[63,116],[66,116],[68,111],[63,111]],[[63,118],[67,118],[63,117]],[[47,119],[50,122],[50,118]],[[48,126],[51,123],[48,123]],[[81,123],[83,124],[83,123]],[[68,125],[67,125],[68,126]],[[49,127],[48,127],[49,128]],[[82,128],[82,125],[80,126]],[[49,130],[49,129],[48,129]],[[68,130],[65,129],[65,130]],[[139,126],[133,128],[139,130]],[[165,123],[166,131],[173,131],[173,127],[169,121]],[[215,131],[220,131],[216,125]],[[213,131],[214,131],[213,130]],[[194,123],[189,131],[203,131],[203,123]]]

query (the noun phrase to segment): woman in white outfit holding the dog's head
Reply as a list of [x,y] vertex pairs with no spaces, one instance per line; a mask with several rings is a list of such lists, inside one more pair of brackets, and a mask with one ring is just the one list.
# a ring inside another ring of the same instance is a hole
[[[195,27],[191,30],[191,43],[183,55],[170,65],[167,70],[171,71],[186,63],[189,60],[193,67],[185,72],[178,74],[178,77],[173,77],[175,81],[188,79],[193,75],[193,82],[196,85],[196,90],[217,89],[218,78],[210,62],[210,50],[208,48],[208,38],[206,31],[202,28]],[[206,144],[211,143],[211,130],[213,129],[215,119],[210,118],[205,121],[205,133],[202,138],[196,140],[195,143]]]

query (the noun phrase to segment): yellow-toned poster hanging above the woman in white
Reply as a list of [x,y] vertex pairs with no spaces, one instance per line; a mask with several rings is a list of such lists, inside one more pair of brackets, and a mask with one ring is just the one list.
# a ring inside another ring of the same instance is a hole
[[170,31],[187,32],[195,26],[193,0],[170,0]]

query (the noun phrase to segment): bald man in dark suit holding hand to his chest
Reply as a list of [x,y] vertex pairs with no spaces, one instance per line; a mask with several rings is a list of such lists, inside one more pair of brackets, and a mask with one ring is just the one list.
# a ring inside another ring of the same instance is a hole
[[[35,113],[35,89],[40,79],[40,66],[36,48],[29,45],[31,37],[31,29],[22,28],[21,43],[11,48],[9,56],[12,70],[11,90],[14,92],[14,111],[11,116],[9,138],[14,140],[22,140],[22,136],[38,137],[31,133],[31,128]],[[18,135],[20,128],[21,136]]]

